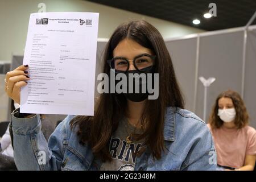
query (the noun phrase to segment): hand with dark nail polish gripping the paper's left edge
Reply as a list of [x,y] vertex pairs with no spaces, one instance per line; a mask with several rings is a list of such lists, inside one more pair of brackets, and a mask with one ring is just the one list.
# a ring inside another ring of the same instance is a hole
[[27,85],[27,80],[30,79],[26,69],[28,65],[20,65],[14,71],[7,72],[5,76],[5,92],[18,104],[20,104],[20,88]]

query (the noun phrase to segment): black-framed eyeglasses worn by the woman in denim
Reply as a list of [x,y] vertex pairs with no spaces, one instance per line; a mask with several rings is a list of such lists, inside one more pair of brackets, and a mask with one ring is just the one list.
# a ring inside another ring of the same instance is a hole
[[[146,71],[147,68],[151,69],[151,67],[155,64],[156,56],[148,55],[144,53],[142,55],[136,56],[133,59],[133,65],[139,71]],[[125,57],[114,57],[113,59],[107,60],[110,68],[115,69],[115,71],[119,72],[127,72],[130,67],[130,61]]]

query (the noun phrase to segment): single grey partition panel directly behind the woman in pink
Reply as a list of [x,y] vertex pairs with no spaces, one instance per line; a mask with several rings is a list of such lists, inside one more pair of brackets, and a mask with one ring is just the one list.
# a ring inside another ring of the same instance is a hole
[[[207,116],[220,92],[232,89],[241,94],[242,51],[242,31],[200,37],[198,75],[216,78],[208,88]],[[204,86],[199,82],[195,112],[200,116],[204,109],[203,96]]]

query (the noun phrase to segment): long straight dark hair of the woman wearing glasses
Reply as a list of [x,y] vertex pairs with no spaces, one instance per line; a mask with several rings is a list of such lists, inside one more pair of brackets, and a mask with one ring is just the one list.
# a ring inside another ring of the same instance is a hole
[[[113,50],[123,39],[131,39],[151,49],[156,55],[155,73],[159,73],[159,97],[147,100],[141,116],[146,127],[136,139],[143,139],[154,158],[160,159],[164,149],[164,116],[166,107],[184,107],[184,100],[177,84],[171,57],[160,32],[144,20],[133,20],[121,24],[109,39],[104,53],[103,72],[110,76],[106,60],[113,58]],[[82,144],[88,142],[93,154],[102,161],[112,160],[109,141],[117,130],[119,120],[126,114],[127,100],[122,94],[103,93],[97,101],[94,116],[77,116],[71,121],[71,128],[77,126]]]

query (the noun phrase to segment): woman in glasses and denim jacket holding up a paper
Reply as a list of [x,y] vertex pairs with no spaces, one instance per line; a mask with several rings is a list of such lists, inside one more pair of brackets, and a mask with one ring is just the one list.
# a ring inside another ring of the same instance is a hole
[[[199,117],[183,109],[171,57],[155,27],[143,20],[117,27],[106,46],[103,67],[108,76],[113,69],[125,74],[158,73],[159,97],[102,93],[93,117],[68,115],[48,144],[39,115],[15,110],[10,127],[18,169],[216,169],[210,131]],[[30,79],[24,72],[27,68],[21,65],[6,75],[6,92],[18,103],[19,88]],[[42,156],[46,160],[38,161]]]

